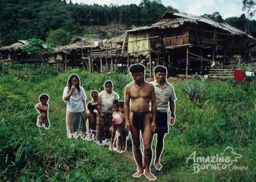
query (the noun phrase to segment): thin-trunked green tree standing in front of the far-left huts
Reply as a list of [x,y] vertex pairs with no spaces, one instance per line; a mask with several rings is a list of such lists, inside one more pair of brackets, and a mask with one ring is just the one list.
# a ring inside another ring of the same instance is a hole
[[[26,52],[28,55],[38,54],[42,58],[42,51],[47,52],[48,55],[53,55],[54,45],[51,43],[45,43],[40,39],[29,39],[26,41],[26,46],[20,47],[21,52]],[[45,60],[42,58],[42,66]],[[42,69],[42,66],[40,70]]]

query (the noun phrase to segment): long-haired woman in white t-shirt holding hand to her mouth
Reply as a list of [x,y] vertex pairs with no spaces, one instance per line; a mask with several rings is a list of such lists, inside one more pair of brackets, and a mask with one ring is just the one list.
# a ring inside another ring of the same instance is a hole
[[86,137],[86,92],[80,87],[78,75],[72,74],[63,92],[63,100],[67,102],[67,137],[79,135]]

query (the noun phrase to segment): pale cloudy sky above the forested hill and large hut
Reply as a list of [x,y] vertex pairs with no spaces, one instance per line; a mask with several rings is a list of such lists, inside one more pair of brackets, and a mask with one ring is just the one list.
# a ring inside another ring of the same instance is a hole
[[[222,18],[240,17],[243,14],[243,0],[162,0],[162,4],[192,15],[213,14],[219,12]],[[83,4],[140,4],[140,0],[72,0],[72,3]],[[255,19],[255,17],[253,18]]]

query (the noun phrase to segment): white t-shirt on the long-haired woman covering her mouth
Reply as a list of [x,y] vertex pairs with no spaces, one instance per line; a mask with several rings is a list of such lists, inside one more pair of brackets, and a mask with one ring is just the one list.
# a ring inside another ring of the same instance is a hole
[[[64,88],[63,99],[65,96],[67,96],[68,90],[68,87]],[[72,92],[69,100],[67,100],[67,111],[75,113],[84,111],[82,100],[86,100],[86,92],[84,92],[83,87],[80,87],[80,93],[78,94],[78,89],[75,89],[74,92]]]

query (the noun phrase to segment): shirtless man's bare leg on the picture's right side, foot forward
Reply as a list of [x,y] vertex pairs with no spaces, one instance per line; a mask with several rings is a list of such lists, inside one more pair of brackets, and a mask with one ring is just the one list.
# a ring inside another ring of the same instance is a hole
[[152,160],[152,139],[153,134],[151,131],[151,120],[149,113],[144,116],[143,121],[143,130],[142,130],[142,138],[143,138],[143,162],[145,164],[145,175],[149,180],[155,180],[156,177],[150,172],[150,165]]

